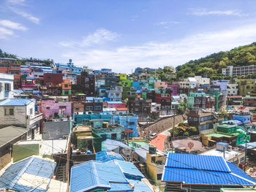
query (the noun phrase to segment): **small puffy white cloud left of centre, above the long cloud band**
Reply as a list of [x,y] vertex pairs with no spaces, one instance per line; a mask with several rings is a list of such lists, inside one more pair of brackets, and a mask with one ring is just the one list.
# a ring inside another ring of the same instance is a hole
[[94,34],[90,34],[87,37],[84,37],[79,42],[59,42],[59,45],[62,47],[91,47],[94,45],[102,45],[105,42],[114,41],[118,38],[116,32],[108,31],[105,28],[99,28]]

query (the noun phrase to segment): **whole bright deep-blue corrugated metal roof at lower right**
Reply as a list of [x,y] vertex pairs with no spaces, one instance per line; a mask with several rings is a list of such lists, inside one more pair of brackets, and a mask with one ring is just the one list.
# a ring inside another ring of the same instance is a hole
[[237,166],[222,158],[223,162],[217,156],[169,153],[168,157],[170,158],[167,158],[162,181],[206,185],[256,185],[255,180]]

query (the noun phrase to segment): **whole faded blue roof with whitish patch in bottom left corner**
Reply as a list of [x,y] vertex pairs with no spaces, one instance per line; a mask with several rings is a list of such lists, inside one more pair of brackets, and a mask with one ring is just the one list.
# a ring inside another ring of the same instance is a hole
[[9,166],[0,177],[0,188],[13,191],[46,192],[56,163],[31,156]]

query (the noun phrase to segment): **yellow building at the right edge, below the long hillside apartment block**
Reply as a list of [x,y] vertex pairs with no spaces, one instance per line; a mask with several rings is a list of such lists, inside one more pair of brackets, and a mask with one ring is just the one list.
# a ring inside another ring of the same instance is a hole
[[241,79],[237,80],[238,91],[240,96],[256,96],[256,80],[255,79]]

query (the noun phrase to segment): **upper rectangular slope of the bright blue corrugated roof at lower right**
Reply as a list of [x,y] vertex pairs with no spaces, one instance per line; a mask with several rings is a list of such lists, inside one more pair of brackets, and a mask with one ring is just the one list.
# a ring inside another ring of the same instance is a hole
[[[209,162],[213,163],[209,164]],[[211,155],[168,153],[166,166],[182,169],[203,169],[215,172],[230,172],[230,169],[223,157]]]

